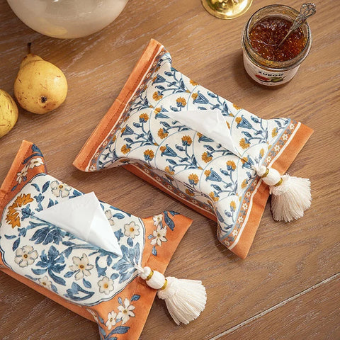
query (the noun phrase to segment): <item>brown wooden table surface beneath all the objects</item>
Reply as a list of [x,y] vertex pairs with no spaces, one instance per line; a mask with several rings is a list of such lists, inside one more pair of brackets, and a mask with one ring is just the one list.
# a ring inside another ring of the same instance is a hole
[[[55,112],[20,109],[18,123],[0,140],[3,181],[21,140],[35,142],[52,176],[140,217],[171,209],[193,219],[166,271],[202,279],[208,302],[191,324],[176,326],[155,300],[140,339],[340,339],[339,274],[339,8],[314,1],[310,55],[293,81],[260,86],[244,72],[240,37],[254,0],[231,21],[208,14],[200,0],[130,0],[107,28],[86,38],[58,40],[25,26],[0,0],[0,88],[13,81],[26,44],[60,67],[67,100]],[[327,24],[324,24],[327,21]],[[154,38],[171,52],[174,67],[261,118],[290,117],[314,134],[289,173],[312,181],[312,207],[295,222],[275,222],[269,204],[249,256],[242,260],[217,241],[216,224],[123,168],[86,174],[72,166],[81,146],[120,92],[142,50]],[[108,186],[107,183],[110,183]],[[0,272],[1,340],[99,339],[93,322],[57,305]]]

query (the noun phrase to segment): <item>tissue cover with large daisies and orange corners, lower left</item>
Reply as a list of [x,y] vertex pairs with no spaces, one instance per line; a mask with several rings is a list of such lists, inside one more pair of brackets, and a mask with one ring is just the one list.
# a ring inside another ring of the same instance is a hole
[[35,218],[82,193],[47,174],[38,147],[23,142],[0,189],[0,269],[98,323],[101,339],[138,339],[157,290],[134,264],[164,273],[191,220],[166,211],[142,219],[101,203],[123,257]]

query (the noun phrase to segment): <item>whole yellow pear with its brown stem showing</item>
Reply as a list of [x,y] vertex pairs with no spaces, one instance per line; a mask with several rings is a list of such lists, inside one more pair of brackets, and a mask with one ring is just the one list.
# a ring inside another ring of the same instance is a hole
[[32,113],[47,113],[58,108],[67,96],[67,80],[62,70],[28,53],[14,81],[14,96],[19,105]]

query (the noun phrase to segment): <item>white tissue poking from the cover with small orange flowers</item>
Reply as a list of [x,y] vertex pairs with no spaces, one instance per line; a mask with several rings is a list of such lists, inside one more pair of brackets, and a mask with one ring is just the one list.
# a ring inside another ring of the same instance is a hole
[[239,157],[239,152],[234,147],[227,122],[221,111],[217,110],[189,110],[189,111],[168,111],[164,113],[169,118],[178,120],[188,128],[200,132],[215,142],[225,147]]

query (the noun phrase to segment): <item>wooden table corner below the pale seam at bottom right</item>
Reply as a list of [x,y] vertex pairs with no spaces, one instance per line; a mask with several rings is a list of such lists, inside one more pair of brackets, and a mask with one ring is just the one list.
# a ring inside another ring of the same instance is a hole
[[[339,339],[339,274],[215,336],[217,339]],[[280,324],[280,327],[276,327]],[[313,324],[310,334],[309,324]]]

